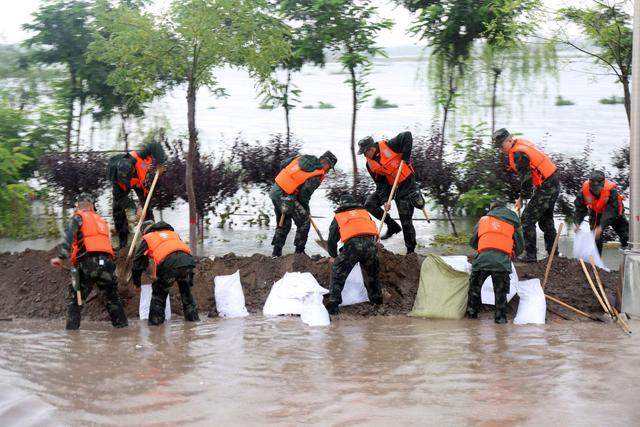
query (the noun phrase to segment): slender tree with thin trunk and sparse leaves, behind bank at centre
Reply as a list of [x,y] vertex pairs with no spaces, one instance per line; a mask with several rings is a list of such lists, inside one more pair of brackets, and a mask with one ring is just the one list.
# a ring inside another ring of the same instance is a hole
[[345,83],[351,88],[351,161],[353,164],[353,193],[358,188],[358,163],[356,160],[356,122],[358,110],[371,96],[367,75],[371,71],[371,58],[384,55],[376,45],[376,36],[383,29],[393,26],[388,19],[379,19],[377,8],[370,1],[320,1],[325,16],[319,24],[330,29],[332,50],[338,53],[340,64],[349,77]]

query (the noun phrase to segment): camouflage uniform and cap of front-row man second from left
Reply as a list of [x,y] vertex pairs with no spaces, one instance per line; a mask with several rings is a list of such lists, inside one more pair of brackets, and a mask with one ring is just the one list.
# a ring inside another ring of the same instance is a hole
[[[160,221],[152,225],[146,232],[173,230],[166,222]],[[149,265],[149,258],[146,255],[148,249],[147,242],[141,240],[136,248],[133,260],[133,284],[137,287],[141,285],[142,272]],[[156,280],[151,285],[151,304],[149,306],[149,325],[161,325],[165,321],[164,310],[167,304],[167,295],[174,282],[178,283],[180,296],[182,299],[182,310],[184,319],[189,322],[200,320],[198,307],[191,294],[193,286],[193,269],[196,266],[195,258],[185,252],[173,252],[169,254],[160,265],[156,266]]]

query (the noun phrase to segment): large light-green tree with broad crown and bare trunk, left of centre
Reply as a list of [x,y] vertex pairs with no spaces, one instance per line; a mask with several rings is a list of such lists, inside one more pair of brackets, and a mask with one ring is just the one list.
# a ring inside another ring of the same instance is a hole
[[[108,4],[108,2],[106,2]],[[214,70],[245,67],[266,78],[290,53],[287,28],[265,0],[175,0],[166,15],[119,4],[99,17],[90,50],[113,64],[108,82],[118,93],[143,103],[169,87],[185,85],[189,148],[185,184],[189,203],[189,243],[196,253],[198,211],[194,166],[198,162],[196,99],[207,87],[222,93]]]

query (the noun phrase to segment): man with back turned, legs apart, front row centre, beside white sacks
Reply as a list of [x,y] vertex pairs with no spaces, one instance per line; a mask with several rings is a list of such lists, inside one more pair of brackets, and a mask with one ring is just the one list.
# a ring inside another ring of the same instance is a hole
[[[347,276],[360,263],[368,281],[367,291],[372,304],[382,304],[378,266],[378,229],[364,207],[356,203],[353,196],[345,194],[340,198],[340,207],[329,229],[328,251],[333,267],[331,269],[331,294],[327,310],[338,314],[342,303],[342,289]],[[343,246],[338,255],[338,239]]]

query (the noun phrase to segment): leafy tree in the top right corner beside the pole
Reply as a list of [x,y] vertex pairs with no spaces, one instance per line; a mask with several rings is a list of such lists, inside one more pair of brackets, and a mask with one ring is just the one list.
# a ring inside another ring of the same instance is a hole
[[592,7],[567,7],[559,11],[564,22],[577,25],[585,40],[572,40],[564,28],[559,40],[595,59],[611,70],[624,92],[624,108],[631,125],[631,53],[633,29],[631,16],[625,12],[627,0],[594,0]]

